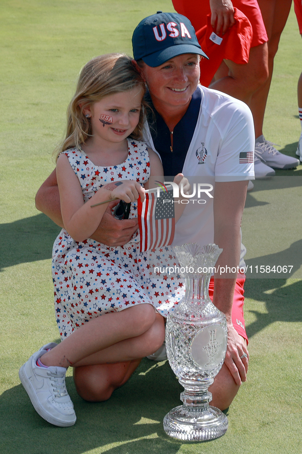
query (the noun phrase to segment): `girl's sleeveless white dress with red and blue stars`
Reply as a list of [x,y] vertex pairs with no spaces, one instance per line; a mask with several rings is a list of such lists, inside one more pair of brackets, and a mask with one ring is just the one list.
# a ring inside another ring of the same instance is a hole
[[[84,202],[104,184],[135,180],[144,184],[150,161],[144,142],[128,139],[128,157],[114,166],[96,166],[83,150],[64,152],[79,178]],[[93,208],[93,209],[97,209]],[[136,203],[130,218],[136,217]],[[53,247],[55,311],[60,336],[108,312],[148,303],[167,317],[184,295],[184,283],[175,278],[155,279],[149,270],[149,252],[140,252],[138,231],[124,246],[108,247],[95,240],[76,242],[62,229]]]

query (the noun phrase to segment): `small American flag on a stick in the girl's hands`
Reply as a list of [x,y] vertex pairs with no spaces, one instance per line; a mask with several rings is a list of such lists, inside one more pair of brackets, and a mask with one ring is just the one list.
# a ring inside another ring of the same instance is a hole
[[140,251],[170,246],[175,230],[173,190],[160,191],[159,197],[156,192],[147,192],[143,203],[138,199],[137,208]]

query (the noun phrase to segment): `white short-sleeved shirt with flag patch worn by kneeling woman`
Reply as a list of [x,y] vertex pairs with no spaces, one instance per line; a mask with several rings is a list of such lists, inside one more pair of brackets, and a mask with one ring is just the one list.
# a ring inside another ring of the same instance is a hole
[[[198,90],[201,92],[200,109],[183,164],[183,175],[192,188],[194,183],[197,188],[198,183],[215,187],[216,181],[253,180],[254,126],[249,107],[216,90],[201,85]],[[145,139],[157,152],[149,127]],[[214,242],[213,199],[206,193],[201,196],[199,202],[205,202],[199,203],[197,197],[188,198],[189,203],[175,226],[173,244],[199,243],[203,246]],[[245,265],[245,252],[242,245],[240,266]]]

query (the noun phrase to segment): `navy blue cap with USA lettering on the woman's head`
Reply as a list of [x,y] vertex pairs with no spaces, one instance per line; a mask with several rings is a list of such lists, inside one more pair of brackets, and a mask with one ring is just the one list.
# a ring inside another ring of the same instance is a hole
[[143,19],[132,36],[133,57],[156,67],[181,54],[208,58],[199,46],[190,20],[177,13],[156,14]]

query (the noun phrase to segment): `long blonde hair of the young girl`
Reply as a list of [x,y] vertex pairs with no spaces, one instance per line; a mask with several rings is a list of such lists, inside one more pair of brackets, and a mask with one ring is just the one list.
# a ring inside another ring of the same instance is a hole
[[[67,148],[78,147],[91,136],[90,119],[84,109],[102,98],[141,87],[145,93],[145,82],[126,54],[106,54],[92,58],[82,69],[76,93],[67,108],[66,137],[55,149],[55,159]],[[143,98],[140,120],[130,135],[141,140],[147,104]]]

